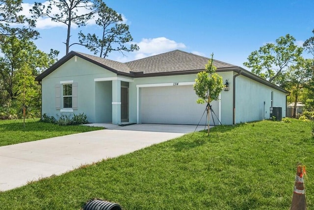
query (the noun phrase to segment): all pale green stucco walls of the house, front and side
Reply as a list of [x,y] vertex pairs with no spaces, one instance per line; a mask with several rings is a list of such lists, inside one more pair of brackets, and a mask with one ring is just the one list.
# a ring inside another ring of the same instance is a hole
[[[228,80],[229,91],[221,92],[221,122],[233,123],[233,71],[219,72],[223,83]],[[99,79],[111,78],[108,81]],[[95,81],[95,79],[97,81]],[[118,80],[117,80],[118,79]],[[62,113],[55,108],[55,85],[60,81],[78,83],[78,109],[73,113],[84,113],[89,122],[121,123],[120,87],[121,80],[129,83],[129,121],[137,122],[137,85],[195,82],[196,74],[131,78],[118,76],[89,61],[73,57],[54,70],[42,80],[42,113],[56,116]],[[123,82],[125,83],[125,82]],[[271,91],[274,91],[274,106],[283,108],[286,113],[286,94],[249,79],[245,76],[236,77],[235,89],[235,122],[262,120],[269,118]],[[141,88],[139,96],[141,95]],[[265,101],[265,109],[263,102]],[[113,102],[113,103],[112,103]],[[141,104],[139,98],[139,104]],[[140,110],[140,108],[139,108]],[[139,112],[139,122],[141,119]]]

